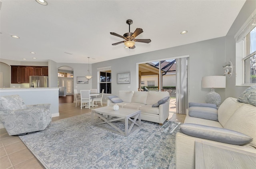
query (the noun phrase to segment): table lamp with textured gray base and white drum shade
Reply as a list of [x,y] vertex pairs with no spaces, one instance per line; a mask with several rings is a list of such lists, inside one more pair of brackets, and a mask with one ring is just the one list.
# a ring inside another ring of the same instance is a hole
[[203,88],[212,88],[212,91],[206,94],[206,103],[220,106],[220,95],[214,91],[214,88],[226,88],[226,76],[205,76],[202,78]]

